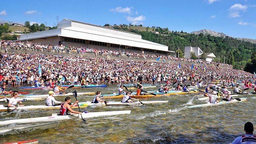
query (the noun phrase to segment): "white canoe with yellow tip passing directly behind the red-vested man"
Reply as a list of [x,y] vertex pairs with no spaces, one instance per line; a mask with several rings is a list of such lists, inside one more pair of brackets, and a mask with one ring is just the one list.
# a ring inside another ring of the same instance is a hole
[[[79,102],[78,103],[80,108],[85,108],[88,106],[87,103]],[[77,109],[78,106],[75,104],[72,109]],[[0,111],[9,111],[15,109],[14,107],[7,107],[4,105],[0,105]],[[47,105],[28,105],[28,106],[23,106],[23,107],[17,107],[17,109],[27,109],[27,110],[37,110],[37,109],[60,109],[60,105],[54,105],[54,106],[47,106]]]

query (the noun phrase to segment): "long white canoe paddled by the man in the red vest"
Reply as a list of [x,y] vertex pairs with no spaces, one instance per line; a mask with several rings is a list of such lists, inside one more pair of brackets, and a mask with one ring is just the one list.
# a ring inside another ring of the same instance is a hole
[[[104,111],[104,112],[83,112],[83,118],[90,118],[90,117],[102,117],[102,116],[112,116],[112,115],[123,115],[123,114],[130,114],[131,110],[123,110],[123,111]],[[65,115],[65,116],[58,116],[57,114],[52,114],[50,117],[31,117],[31,118],[24,118],[24,119],[13,119],[13,120],[6,120],[0,121],[0,125],[8,125],[13,123],[34,123],[34,122],[52,122],[52,121],[59,121],[65,119],[72,119],[72,118],[82,118],[80,114],[74,115]]]

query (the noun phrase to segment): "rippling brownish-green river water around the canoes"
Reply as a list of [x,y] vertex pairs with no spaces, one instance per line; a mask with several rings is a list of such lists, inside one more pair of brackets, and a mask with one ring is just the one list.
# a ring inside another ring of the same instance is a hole
[[[158,87],[158,86],[157,86]],[[13,89],[14,88],[7,88]],[[158,88],[148,88],[147,91]],[[47,94],[49,89],[21,90],[30,94]],[[118,86],[68,89],[67,92],[96,92],[102,95],[117,93]],[[136,90],[133,90],[136,91]],[[252,91],[252,89],[249,89]],[[73,98],[72,96],[70,96]],[[86,107],[81,111],[99,112],[131,110],[130,115],[117,115],[60,121],[57,128],[33,130],[29,132],[11,132],[0,136],[0,143],[39,140],[39,143],[231,143],[237,136],[244,134],[247,121],[256,125],[256,95],[238,95],[247,97],[247,101],[206,108],[188,109],[187,106],[204,104],[198,101],[202,94],[171,95],[140,99],[141,101],[169,101],[164,104]],[[64,101],[65,97],[55,97]],[[79,102],[92,101],[91,95],[77,96]],[[75,98],[72,99],[72,102]],[[121,101],[121,99],[107,99]],[[27,101],[24,104],[43,105],[44,101]],[[51,116],[59,110],[18,110],[13,114],[0,112],[0,121]],[[4,127],[13,127],[16,124]],[[18,125],[18,124],[17,124]],[[23,124],[26,125],[26,124]],[[27,124],[29,125],[29,124]]]

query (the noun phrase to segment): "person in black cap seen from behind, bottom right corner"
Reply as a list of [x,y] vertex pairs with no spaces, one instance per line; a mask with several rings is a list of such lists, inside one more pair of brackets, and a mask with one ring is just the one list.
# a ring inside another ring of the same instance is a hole
[[256,144],[256,136],[253,135],[253,125],[251,122],[244,124],[245,134],[237,137],[232,144]]

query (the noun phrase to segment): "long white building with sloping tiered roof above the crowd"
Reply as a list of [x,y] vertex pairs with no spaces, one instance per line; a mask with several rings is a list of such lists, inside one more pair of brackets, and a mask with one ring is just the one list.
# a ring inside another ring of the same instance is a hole
[[141,35],[101,27],[70,19],[63,19],[57,29],[20,35],[21,41],[47,43],[65,46],[87,47],[93,49],[126,50],[167,55],[168,46],[141,39]]

